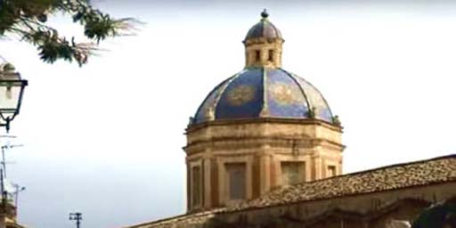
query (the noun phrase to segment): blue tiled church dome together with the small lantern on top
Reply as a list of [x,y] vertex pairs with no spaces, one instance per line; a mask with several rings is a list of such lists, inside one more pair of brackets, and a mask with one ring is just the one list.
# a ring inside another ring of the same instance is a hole
[[281,33],[267,12],[261,16],[244,40],[245,68],[208,94],[190,124],[246,118],[313,118],[338,124],[314,85],[281,68]]

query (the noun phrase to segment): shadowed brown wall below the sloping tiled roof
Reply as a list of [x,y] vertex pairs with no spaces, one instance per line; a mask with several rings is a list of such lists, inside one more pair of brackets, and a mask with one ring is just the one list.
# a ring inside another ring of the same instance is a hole
[[412,222],[432,203],[455,197],[456,183],[440,183],[250,209],[209,220],[217,221],[215,227],[386,228],[396,220]]

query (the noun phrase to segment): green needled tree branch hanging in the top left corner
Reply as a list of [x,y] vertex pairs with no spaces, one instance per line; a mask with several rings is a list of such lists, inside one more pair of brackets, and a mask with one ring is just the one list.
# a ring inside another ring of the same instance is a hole
[[[94,42],[77,43],[74,37],[69,40],[46,25],[48,15],[56,12],[70,15],[73,22],[84,27],[85,37]],[[131,18],[111,18],[95,9],[90,0],[0,0],[0,37],[19,35],[37,46],[41,60],[48,63],[62,59],[82,66],[100,41],[128,34],[133,23]]]

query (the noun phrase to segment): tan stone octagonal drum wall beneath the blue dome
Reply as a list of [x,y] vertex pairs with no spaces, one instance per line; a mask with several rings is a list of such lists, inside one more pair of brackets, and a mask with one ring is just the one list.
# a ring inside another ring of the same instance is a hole
[[[225,166],[246,165],[246,199],[255,199],[283,184],[282,162],[302,162],[303,181],[329,177],[328,167],[342,173],[341,128],[316,119],[256,119],[216,121],[187,130],[187,166],[201,166],[204,184],[201,207],[191,211],[230,206],[229,178]],[[191,168],[187,169],[191,171]],[[187,175],[188,183],[192,175]]]

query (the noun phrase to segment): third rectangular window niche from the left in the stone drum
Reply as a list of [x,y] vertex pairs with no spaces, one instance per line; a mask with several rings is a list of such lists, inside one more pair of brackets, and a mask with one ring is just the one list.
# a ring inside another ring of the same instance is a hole
[[282,161],[281,162],[281,183],[295,184],[305,182],[304,161]]

